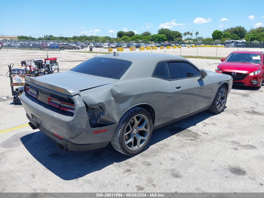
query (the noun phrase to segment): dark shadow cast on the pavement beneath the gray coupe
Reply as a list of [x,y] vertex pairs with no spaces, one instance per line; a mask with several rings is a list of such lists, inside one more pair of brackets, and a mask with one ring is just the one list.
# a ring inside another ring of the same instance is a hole
[[[157,129],[152,132],[147,148],[191,126],[195,126],[213,115],[216,114],[203,111]],[[133,157],[117,152],[111,143],[102,149],[67,153],[64,150],[59,150],[57,143],[41,131],[25,135],[20,140],[39,163],[63,180],[77,179],[94,171],[102,170],[113,163],[122,162]]]

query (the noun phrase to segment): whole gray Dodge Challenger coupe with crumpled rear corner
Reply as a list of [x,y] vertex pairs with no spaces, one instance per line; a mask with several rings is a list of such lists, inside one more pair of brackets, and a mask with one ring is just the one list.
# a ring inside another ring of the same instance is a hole
[[232,77],[186,58],[114,53],[67,72],[26,77],[20,97],[29,125],[66,151],[112,146],[137,155],[152,131],[204,110],[221,113]]

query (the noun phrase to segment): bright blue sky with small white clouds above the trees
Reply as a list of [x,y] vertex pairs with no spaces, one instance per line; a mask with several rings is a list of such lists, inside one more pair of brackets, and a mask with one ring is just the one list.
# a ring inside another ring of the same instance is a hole
[[[256,5],[256,7],[254,6]],[[264,26],[263,1],[3,1],[0,34],[116,37],[116,32],[142,33],[164,27],[211,37],[216,29]],[[23,13],[22,13],[23,11]]]

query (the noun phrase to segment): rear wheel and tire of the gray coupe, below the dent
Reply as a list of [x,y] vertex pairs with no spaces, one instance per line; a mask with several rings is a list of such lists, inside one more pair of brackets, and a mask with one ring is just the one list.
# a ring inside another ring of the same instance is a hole
[[[144,130],[137,130],[138,126],[141,126],[141,129]],[[152,128],[152,118],[148,111],[134,107],[122,116],[112,137],[111,144],[115,150],[124,155],[137,155],[146,148],[151,138]]]

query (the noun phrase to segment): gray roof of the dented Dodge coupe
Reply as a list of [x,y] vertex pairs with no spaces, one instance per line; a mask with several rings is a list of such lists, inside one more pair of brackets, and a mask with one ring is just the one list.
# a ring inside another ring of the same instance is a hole
[[186,58],[183,58],[181,56],[172,55],[172,54],[160,54],[160,53],[119,53],[118,56],[114,56],[113,54],[107,54],[107,55],[101,55],[96,56],[94,58],[115,58],[115,59],[121,59],[121,60],[127,60],[127,61],[133,61],[135,59],[139,58],[149,58],[150,60],[152,58],[159,58],[159,61],[163,60],[187,60]]

